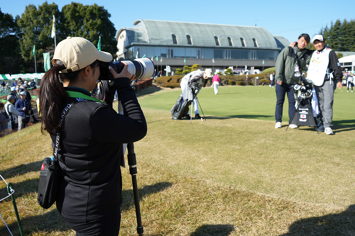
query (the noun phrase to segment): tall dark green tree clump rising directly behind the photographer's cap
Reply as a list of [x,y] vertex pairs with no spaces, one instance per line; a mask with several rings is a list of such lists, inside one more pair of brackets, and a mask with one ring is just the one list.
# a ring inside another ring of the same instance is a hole
[[[110,52],[115,57],[117,42],[116,29],[109,20],[110,14],[102,6],[82,5],[72,2],[65,5],[60,12],[54,2],[45,1],[38,6],[29,4],[24,13],[17,19],[21,29],[20,53],[26,63],[34,62],[32,54],[35,45],[37,72],[44,72],[42,53],[50,52],[53,57],[54,39],[51,38],[53,15],[56,18],[56,43],[66,39],[67,36],[83,37],[95,46],[101,36],[102,50]],[[25,68],[26,72],[34,72],[34,66]]]

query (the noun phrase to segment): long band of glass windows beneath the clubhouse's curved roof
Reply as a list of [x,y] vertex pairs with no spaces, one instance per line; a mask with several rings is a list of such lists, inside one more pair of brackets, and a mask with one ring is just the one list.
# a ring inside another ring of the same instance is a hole
[[148,58],[204,58],[204,59],[245,59],[245,60],[276,60],[277,50],[251,50],[226,48],[196,48],[196,47],[159,47],[133,46],[127,50],[128,58],[146,55]]

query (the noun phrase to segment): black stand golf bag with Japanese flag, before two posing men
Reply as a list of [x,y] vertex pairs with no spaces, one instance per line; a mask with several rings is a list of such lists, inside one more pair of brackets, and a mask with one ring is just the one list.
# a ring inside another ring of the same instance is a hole
[[[316,117],[313,116],[312,111],[312,85],[306,80],[301,79],[301,85],[294,85],[292,90],[294,92],[295,100],[297,102],[297,109],[293,115],[290,124],[296,124],[298,126],[316,127]],[[298,92],[300,96],[298,97]]]

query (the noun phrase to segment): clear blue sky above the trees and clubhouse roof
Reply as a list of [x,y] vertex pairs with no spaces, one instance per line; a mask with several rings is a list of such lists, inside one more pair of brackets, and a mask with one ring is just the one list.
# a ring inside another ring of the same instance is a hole
[[[44,0],[2,0],[1,12],[10,13],[13,18],[24,12],[28,4],[42,5]],[[49,0],[48,3],[51,3]],[[59,10],[71,0],[54,1]],[[343,1],[118,1],[118,0],[80,0],[83,5],[95,2],[104,6],[111,14],[110,21],[116,30],[133,27],[137,19],[163,21],[182,21],[212,24],[246,25],[267,29],[272,35],[280,35],[290,42],[297,40],[302,33],[311,36],[322,27],[337,19],[350,21],[355,18],[354,0]],[[249,5],[250,4],[250,5]]]

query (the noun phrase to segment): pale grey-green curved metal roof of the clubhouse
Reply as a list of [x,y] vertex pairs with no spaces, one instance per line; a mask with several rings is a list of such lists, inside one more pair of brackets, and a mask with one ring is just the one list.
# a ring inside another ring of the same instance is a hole
[[[223,25],[207,23],[191,23],[176,21],[158,21],[139,19],[133,23],[136,28],[121,28],[117,33],[125,30],[129,45],[132,43],[147,43],[153,45],[188,46],[187,35],[191,37],[192,45],[198,47],[216,47],[215,37],[218,38],[220,47],[255,48],[256,40],[258,48],[280,49],[289,44],[288,40],[280,36],[274,36],[261,27]],[[173,44],[173,36],[176,36],[178,44]],[[245,46],[242,46],[242,40]]]

